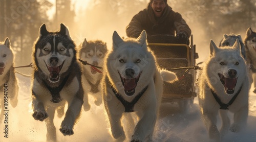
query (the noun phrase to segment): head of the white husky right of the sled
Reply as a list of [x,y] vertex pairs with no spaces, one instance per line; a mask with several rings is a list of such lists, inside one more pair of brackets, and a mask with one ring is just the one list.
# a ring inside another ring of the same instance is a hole
[[222,91],[223,88],[222,92],[232,94],[241,87],[246,76],[246,65],[238,39],[233,46],[225,48],[218,48],[211,40],[210,57],[206,65],[208,84],[210,88],[215,88],[215,91]]

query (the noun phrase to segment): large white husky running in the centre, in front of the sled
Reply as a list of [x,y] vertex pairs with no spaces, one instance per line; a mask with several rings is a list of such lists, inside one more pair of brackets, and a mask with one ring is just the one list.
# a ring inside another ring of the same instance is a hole
[[176,79],[174,73],[158,67],[155,55],[147,48],[144,30],[137,39],[124,40],[115,31],[112,50],[104,59],[102,79],[103,102],[112,136],[118,141],[126,138],[121,117],[128,119],[124,113],[135,112],[132,114],[138,122],[131,141],[152,140],[163,81]]

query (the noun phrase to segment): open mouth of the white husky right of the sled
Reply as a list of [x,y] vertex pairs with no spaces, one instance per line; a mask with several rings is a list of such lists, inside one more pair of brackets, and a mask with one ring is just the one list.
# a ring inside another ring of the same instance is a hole
[[224,85],[226,93],[234,93],[234,87],[237,85],[238,78],[225,78],[222,74],[218,74],[220,77],[221,83]]

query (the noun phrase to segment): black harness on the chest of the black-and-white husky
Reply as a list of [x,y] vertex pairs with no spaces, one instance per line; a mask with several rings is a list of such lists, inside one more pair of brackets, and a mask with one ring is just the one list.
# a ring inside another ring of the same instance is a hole
[[67,77],[65,77],[63,79],[63,81],[61,82],[61,84],[58,87],[51,87],[49,86],[44,80],[42,82],[44,82],[44,84],[46,85],[46,87],[48,88],[48,90],[51,92],[52,95],[52,100],[50,100],[53,103],[59,103],[62,101],[62,99],[60,98],[60,94],[59,92],[62,90],[62,88],[65,86],[67,80],[69,78],[69,75]]

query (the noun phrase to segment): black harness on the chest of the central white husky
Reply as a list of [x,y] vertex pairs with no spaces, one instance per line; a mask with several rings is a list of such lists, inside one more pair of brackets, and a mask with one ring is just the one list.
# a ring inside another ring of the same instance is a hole
[[134,112],[133,108],[134,105],[139,101],[140,97],[142,96],[142,94],[146,91],[148,86],[146,86],[145,88],[143,88],[141,90],[141,92],[139,94],[137,94],[137,96],[133,99],[132,102],[127,102],[126,100],[123,99],[123,97],[121,96],[121,94],[119,94],[116,89],[111,86],[116,98],[123,104],[125,110],[124,112]]

